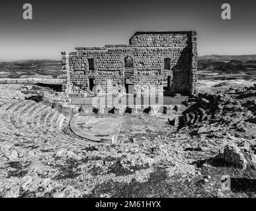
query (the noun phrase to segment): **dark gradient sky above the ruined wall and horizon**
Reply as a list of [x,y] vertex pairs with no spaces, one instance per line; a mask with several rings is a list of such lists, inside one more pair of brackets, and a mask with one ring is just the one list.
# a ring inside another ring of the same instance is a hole
[[[31,3],[33,20],[22,18]],[[222,20],[230,3],[232,19]],[[255,54],[256,1],[104,0],[0,3],[0,60],[60,59],[74,47],[128,44],[138,30],[196,30],[198,54]]]

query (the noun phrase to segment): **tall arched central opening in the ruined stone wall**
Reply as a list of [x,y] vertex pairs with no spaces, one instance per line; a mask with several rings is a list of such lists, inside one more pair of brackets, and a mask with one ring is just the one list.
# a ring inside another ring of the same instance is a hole
[[133,94],[134,60],[132,57],[124,58],[124,86],[126,93]]

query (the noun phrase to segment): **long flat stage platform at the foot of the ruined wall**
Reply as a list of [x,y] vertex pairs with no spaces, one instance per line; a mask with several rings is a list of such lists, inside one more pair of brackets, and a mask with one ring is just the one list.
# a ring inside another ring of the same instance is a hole
[[70,98],[70,104],[73,105],[101,105],[101,106],[168,106],[181,105],[188,96],[181,96],[180,98],[163,96],[163,97],[134,97],[132,95],[124,95],[120,97],[114,96],[95,96],[84,98]]

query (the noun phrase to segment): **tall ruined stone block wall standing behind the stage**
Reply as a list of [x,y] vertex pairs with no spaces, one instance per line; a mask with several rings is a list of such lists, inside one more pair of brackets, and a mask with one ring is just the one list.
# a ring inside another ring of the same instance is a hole
[[[77,47],[76,52],[62,53],[67,79],[63,86],[69,93],[89,91],[89,78],[94,92],[124,92],[124,59],[133,59],[131,78],[134,94],[163,95],[163,76],[171,76],[172,92],[194,92],[196,88],[196,32],[137,32],[128,45]],[[170,58],[170,69],[164,59]],[[94,69],[89,70],[88,59]]]

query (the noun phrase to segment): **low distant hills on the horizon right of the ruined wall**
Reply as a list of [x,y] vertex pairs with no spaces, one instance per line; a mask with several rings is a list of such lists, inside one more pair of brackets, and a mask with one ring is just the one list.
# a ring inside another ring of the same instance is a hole
[[215,60],[215,61],[225,61],[225,60],[256,60],[256,54],[252,55],[201,55],[198,56],[199,60]]

